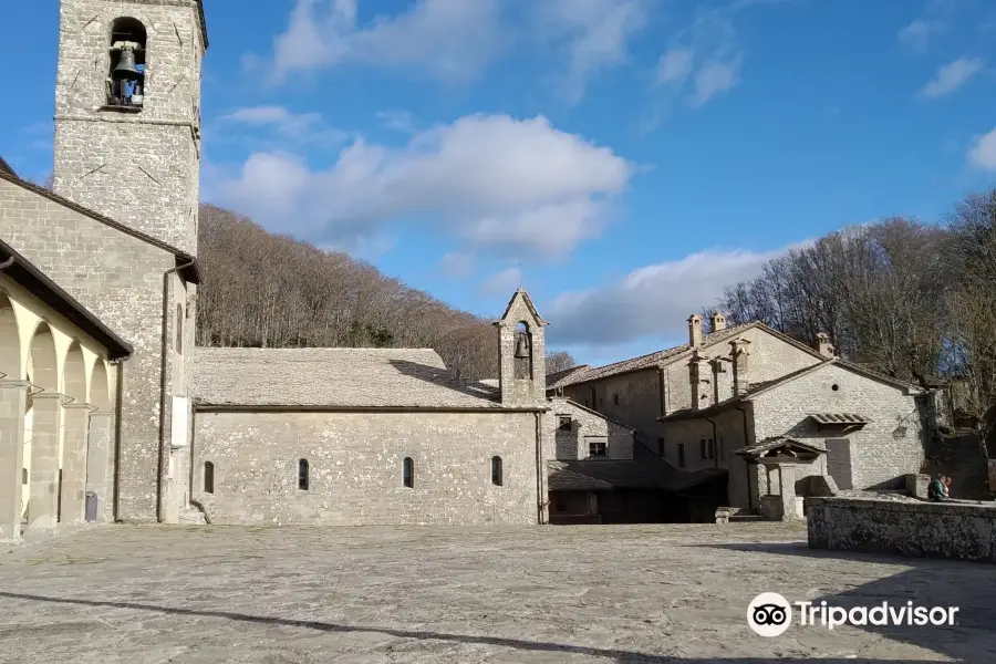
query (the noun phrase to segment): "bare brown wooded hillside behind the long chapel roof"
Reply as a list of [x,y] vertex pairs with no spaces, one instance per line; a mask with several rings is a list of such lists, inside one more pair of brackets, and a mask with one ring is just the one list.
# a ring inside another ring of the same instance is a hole
[[[453,309],[345,252],[203,205],[198,256],[198,345],[432,347],[458,377],[498,376],[492,319]],[[547,359],[550,371],[573,364],[562,352]]]

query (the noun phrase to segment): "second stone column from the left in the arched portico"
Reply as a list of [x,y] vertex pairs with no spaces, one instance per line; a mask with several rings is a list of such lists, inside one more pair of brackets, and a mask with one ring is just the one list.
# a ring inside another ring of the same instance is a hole
[[61,394],[44,392],[32,396],[34,426],[28,494],[28,527],[31,529],[49,530],[58,522],[59,426],[63,398]]

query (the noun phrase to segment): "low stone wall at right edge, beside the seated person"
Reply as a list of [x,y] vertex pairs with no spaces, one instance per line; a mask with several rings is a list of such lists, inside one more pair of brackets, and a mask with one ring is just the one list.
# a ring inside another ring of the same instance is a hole
[[996,504],[807,498],[810,549],[996,563]]

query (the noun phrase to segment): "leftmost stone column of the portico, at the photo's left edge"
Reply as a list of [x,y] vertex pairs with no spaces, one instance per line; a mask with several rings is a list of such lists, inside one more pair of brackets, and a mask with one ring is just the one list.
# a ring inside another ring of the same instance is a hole
[[0,381],[0,540],[21,537],[28,383]]

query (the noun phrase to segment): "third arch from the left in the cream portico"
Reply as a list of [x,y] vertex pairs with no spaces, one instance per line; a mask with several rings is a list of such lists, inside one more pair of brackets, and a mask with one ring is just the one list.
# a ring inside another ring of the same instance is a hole
[[86,489],[86,429],[90,406],[86,402],[86,364],[79,341],[65,353],[63,384],[66,403],[62,412],[62,473],[59,520],[83,520]]

